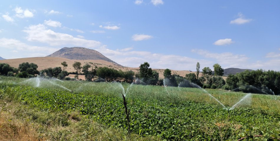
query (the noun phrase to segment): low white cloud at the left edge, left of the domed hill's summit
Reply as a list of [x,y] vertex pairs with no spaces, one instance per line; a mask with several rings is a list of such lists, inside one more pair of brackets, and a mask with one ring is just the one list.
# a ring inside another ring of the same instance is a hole
[[42,47],[42,46],[30,46],[26,43],[22,43],[16,39],[9,39],[9,38],[0,38],[0,47],[2,48],[9,48],[13,49],[12,52],[18,51],[29,51],[29,52],[46,52],[46,53],[53,53],[57,51],[57,48],[50,48],[50,47]]

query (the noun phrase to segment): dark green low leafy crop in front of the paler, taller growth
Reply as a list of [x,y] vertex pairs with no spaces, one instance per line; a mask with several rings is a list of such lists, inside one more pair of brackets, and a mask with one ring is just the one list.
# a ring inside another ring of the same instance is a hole
[[[73,85],[77,84],[80,83],[73,82]],[[106,83],[100,85],[106,85]],[[147,95],[150,96],[151,93],[162,88],[137,85],[138,87],[140,90],[149,89],[151,92]],[[114,87],[109,89],[112,88]],[[203,93],[196,93],[196,90],[199,89],[195,88],[182,89],[180,93],[183,93],[184,90],[190,90],[187,95],[190,95],[194,90],[196,97]],[[124,126],[126,120],[122,99],[117,95],[120,92],[112,90],[114,95],[108,94],[103,89],[100,92],[92,94],[70,93],[64,90],[0,83],[0,95],[3,99],[18,100],[20,103],[38,108],[41,111],[78,110],[95,122],[127,130],[127,126]],[[218,91],[215,90],[212,93],[215,92]],[[237,140],[244,136],[250,138],[253,135],[263,135],[269,138],[280,133],[280,115],[277,112],[242,107],[227,111],[215,104],[189,100],[174,104],[170,102],[170,99],[156,100],[152,97],[142,99],[144,93],[141,91],[139,93],[141,95],[139,97],[129,97],[128,95],[127,105],[131,111],[130,125],[134,134],[157,136],[163,140]],[[202,96],[205,97],[205,95]],[[231,98],[234,97],[232,95]],[[64,127],[69,126],[67,118],[60,118],[64,116],[53,116],[47,119],[38,118],[38,115],[32,113],[30,113],[32,119],[39,122],[58,121]],[[253,139],[262,140],[265,138]]]

